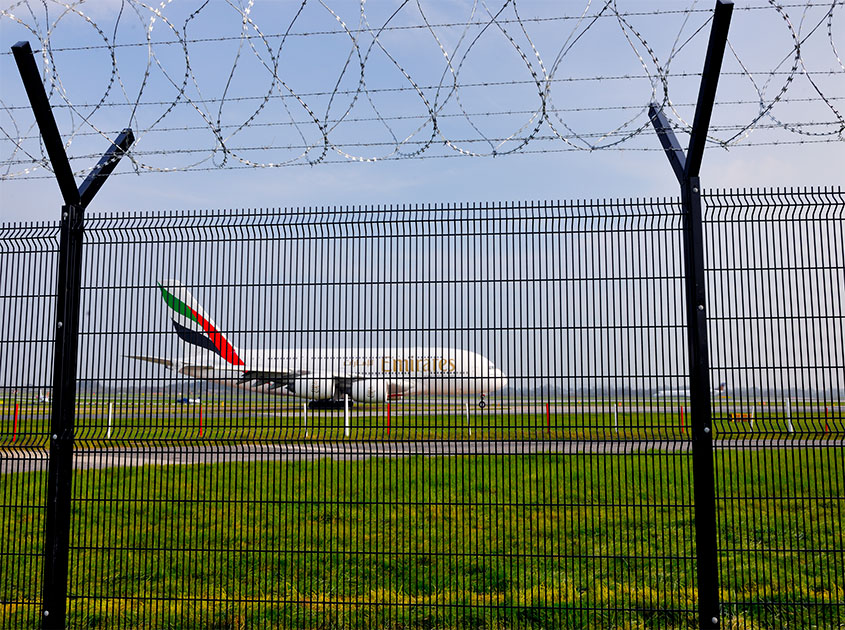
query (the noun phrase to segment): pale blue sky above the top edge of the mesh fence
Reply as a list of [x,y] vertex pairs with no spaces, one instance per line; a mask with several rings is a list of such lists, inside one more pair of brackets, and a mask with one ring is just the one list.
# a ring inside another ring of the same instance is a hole
[[[837,55],[845,50],[845,8],[836,4],[827,19],[830,3],[787,3],[780,13],[765,1],[736,4],[714,137],[728,139],[752,121],[761,94],[766,102],[780,96],[771,110],[778,123],[813,123],[801,129],[825,135],[796,133],[764,118],[730,150],[708,148],[703,182],[709,188],[841,185],[845,68]],[[620,127],[622,133],[642,128],[655,94],[677,105],[667,110],[674,122],[692,119],[712,5],[370,2],[363,5],[366,23],[362,5],[354,2],[181,2],[165,4],[157,15],[141,3],[116,0],[79,3],[76,13],[47,6],[46,16],[37,3],[8,6],[0,39],[3,50],[20,39],[39,49],[36,35],[50,31],[51,100],[78,181],[105,150],[107,137],[127,125],[139,136],[140,166],[125,161],[118,168],[92,204],[96,212],[675,195],[674,176],[649,128],[613,149],[583,148],[593,141],[607,145],[609,139],[596,137]],[[494,15],[498,23],[491,22]],[[433,26],[423,28],[425,20]],[[467,22],[473,24],[462,26]],[[361,33],[367,25],[371,30]],[[286,29],[291,35],[282,44]],[[242,33],[250,39],[239,39]],[[805,40],[800,59],[793,34]],[[143,45],[148,35],[149,47]],[[168,43],[177,35],[189,41],[185,48]],[[119,45],[114,66],[106,42]],[[449,97],[454,74],[447,56],[462,86]],[[40,55],[38,63],[44,67]],[[6,134],[0,219],[55,218],[61,199],[49,173],[21,174],[33,164],[15,153],[16,143],[36,158],[40,147],[11,56],[4,53],[0,64]],[[797,71],[787,80],[793,66]],[[669,76],[666,93],[661,71]],[[555,79],[546,107],[563,110],[550,115],[549,124],[537,123],[543,101],[535,80],[544,86],[543,73]],[[615,78],[620,76],[625,78]],[[171,109],[183,79],[182,96]],[[255,102],[266,95],[256,113]],[[93,107],[101,100],[105,106]],[[427,118],[433,106],[439,107],[439,135],[420,158],[362,163],[347,157],[412,152],[433,135]],[[379,117],[387,122],[374,121]],[[227,168],[216,168],[223,161],[212,131],[217,123],[234,149]],[[506,153],[537,127],[516,154],[460,153]],[[330,142],[325,153],[323,131]],[[570,144],[555,131],[577,136],[569,135]],[[679,135],[686,145],[687,136]],[[488,141],[510,137],[516,139]],[[303,143],[304,152],[296,148]],[[315,156],[322,163],[309,165]],[[293,165],[243,168],[238,159]],[[148,172],[169,168],[177,171]],[[184,168],[208,170],[178,170]]]

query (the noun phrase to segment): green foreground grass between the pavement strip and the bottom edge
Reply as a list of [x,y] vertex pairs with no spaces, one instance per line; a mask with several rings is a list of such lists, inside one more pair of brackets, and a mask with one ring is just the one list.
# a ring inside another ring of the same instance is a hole
[[[716,457],[722,627],[845,627],[843,449]],[[0,626],[37,617],[43,510],[9,506],[45,476],[0,477]],[[667,453],[81,470],[69,622],[691,628],[690,480]]]

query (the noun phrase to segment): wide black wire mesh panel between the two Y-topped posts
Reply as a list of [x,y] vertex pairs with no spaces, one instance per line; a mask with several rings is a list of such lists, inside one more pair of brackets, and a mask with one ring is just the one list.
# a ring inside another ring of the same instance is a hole
[[69,619],[683,626],[674,202],[86,226]]

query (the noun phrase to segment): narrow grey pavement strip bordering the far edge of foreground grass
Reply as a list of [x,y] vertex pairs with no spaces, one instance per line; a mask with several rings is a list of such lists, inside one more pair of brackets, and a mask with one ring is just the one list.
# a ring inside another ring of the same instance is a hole
[[[720,449],[763,450],[795,448],[842,448],[845,439],[816,438],[730,438],[716,439]],[[467,441],[333,441],[288,442],[281,444],[200,444],[146,447],[127,446],[86,449],[74,453],[76,470],[215,464],[226,462],[291,462],[330,458],[359,461],[372,457],[455,457],[509,456],[537,453],[627,455],[636,453],[687,453],[689,440],[467,440]],[[34,472],[47,469],[44,449],[4,448],[0,450],[0,474]]]

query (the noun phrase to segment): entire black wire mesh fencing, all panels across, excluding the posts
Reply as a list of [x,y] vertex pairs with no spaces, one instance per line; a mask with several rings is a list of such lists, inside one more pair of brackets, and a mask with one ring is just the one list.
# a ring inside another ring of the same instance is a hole
[[[705,202],[709,510],[677,200],[86,219],[67,624],[696,627],[698,519],[720,627],[841,627],[845,195]],[[0,233],[35,627],[59,226]]]

